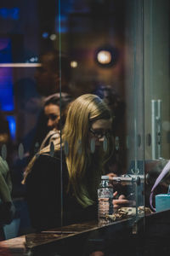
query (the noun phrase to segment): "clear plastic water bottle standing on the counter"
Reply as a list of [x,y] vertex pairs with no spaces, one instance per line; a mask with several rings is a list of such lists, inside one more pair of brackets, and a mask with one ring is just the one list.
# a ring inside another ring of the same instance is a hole
[[106,215],[113,213],[113,187],[109,183],[109,176],[102,176],[98,189],[98,220],[99,224],[108,224],[111,221]]

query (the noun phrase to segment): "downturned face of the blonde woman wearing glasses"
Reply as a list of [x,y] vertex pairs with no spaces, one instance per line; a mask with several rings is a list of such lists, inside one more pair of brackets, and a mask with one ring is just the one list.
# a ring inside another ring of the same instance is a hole
[[96,147],[101,146],[104,138],[109,135],[111,135],[111,119],[99,119],[90,126],[89,139],[94,139]]

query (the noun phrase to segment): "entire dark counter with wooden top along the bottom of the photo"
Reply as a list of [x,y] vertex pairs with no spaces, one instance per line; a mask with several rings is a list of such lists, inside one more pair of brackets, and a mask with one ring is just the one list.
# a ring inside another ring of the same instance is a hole
[[124,256],[128,252],[134,256],[169,256],[169,237],[167,210],[151,213],[137,222],[127,218],[103,226],[97,222],[71,224],[1,241],[0,256],[89,256],[95,248],[100,250],[103,241],[108,250],[105,255]]

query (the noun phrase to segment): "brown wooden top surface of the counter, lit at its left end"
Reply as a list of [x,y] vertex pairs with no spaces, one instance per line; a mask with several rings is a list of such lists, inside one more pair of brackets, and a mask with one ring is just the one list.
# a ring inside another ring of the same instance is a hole
[[[57,241],[67,239],[77,235],[105,229],[112,225],[123,225],[128,223],[129,220],[116,221],[111,224],[100,225],[97,222],[87,222],[82,224],[71,224],[62,228],[53,230],[45,230],[41,233],[32,233],[26,236],[19,236],[13,239],[0,241],[0,255],[1,256],[26,256],[32,255],[30,252],[34,251],[37,247],[54,245]],[[128,223],[129,224],[129,223]],[[39,254],[38,254],[39,255]]]

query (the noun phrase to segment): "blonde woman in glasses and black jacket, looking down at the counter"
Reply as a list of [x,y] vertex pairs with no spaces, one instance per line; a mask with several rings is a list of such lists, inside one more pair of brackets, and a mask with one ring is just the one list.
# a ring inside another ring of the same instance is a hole
[[71,102],[62,141],[42,149],[25,172],[34,228],[97,218],[97,188],[112,148],[111,122],[99,96],[86,94]]

